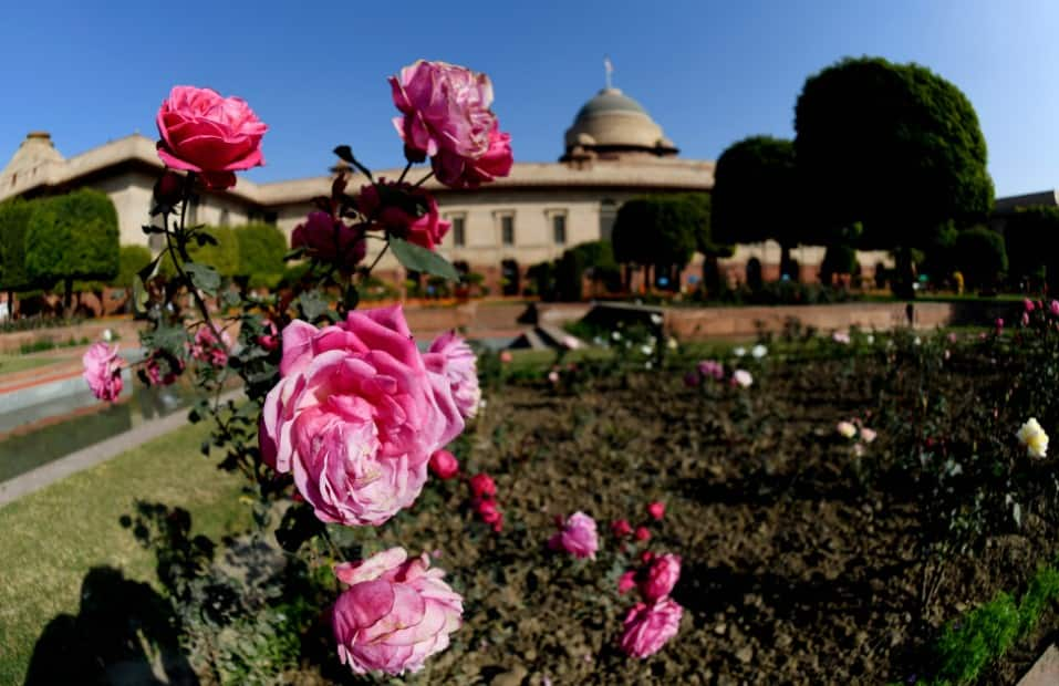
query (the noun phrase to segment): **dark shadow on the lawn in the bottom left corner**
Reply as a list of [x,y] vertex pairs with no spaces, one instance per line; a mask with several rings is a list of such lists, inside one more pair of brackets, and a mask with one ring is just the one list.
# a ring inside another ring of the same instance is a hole
[[25,684],[198,684],[178,636],[169,603],[149,585],[96,567],[81,584],[77,615],[44,627]]

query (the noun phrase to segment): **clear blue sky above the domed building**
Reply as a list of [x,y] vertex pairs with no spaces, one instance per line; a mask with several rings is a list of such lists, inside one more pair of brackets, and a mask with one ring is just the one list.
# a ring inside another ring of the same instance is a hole
[[603,85],[604,54],[682,155],[716,159],[747,135],[791,136],[806,76],[871,54],[967,94],[1003,196],[1059,186],[1056,37],[1048,0],[18,2],[0,22],[0,164],[31,129],[66,156],[154,137],[169,86],[195,84],[271,126],[255,180],[323,174],[340,143],[396,166],[385,79],[421,56],[487,72],[516,158],[549,162]]

